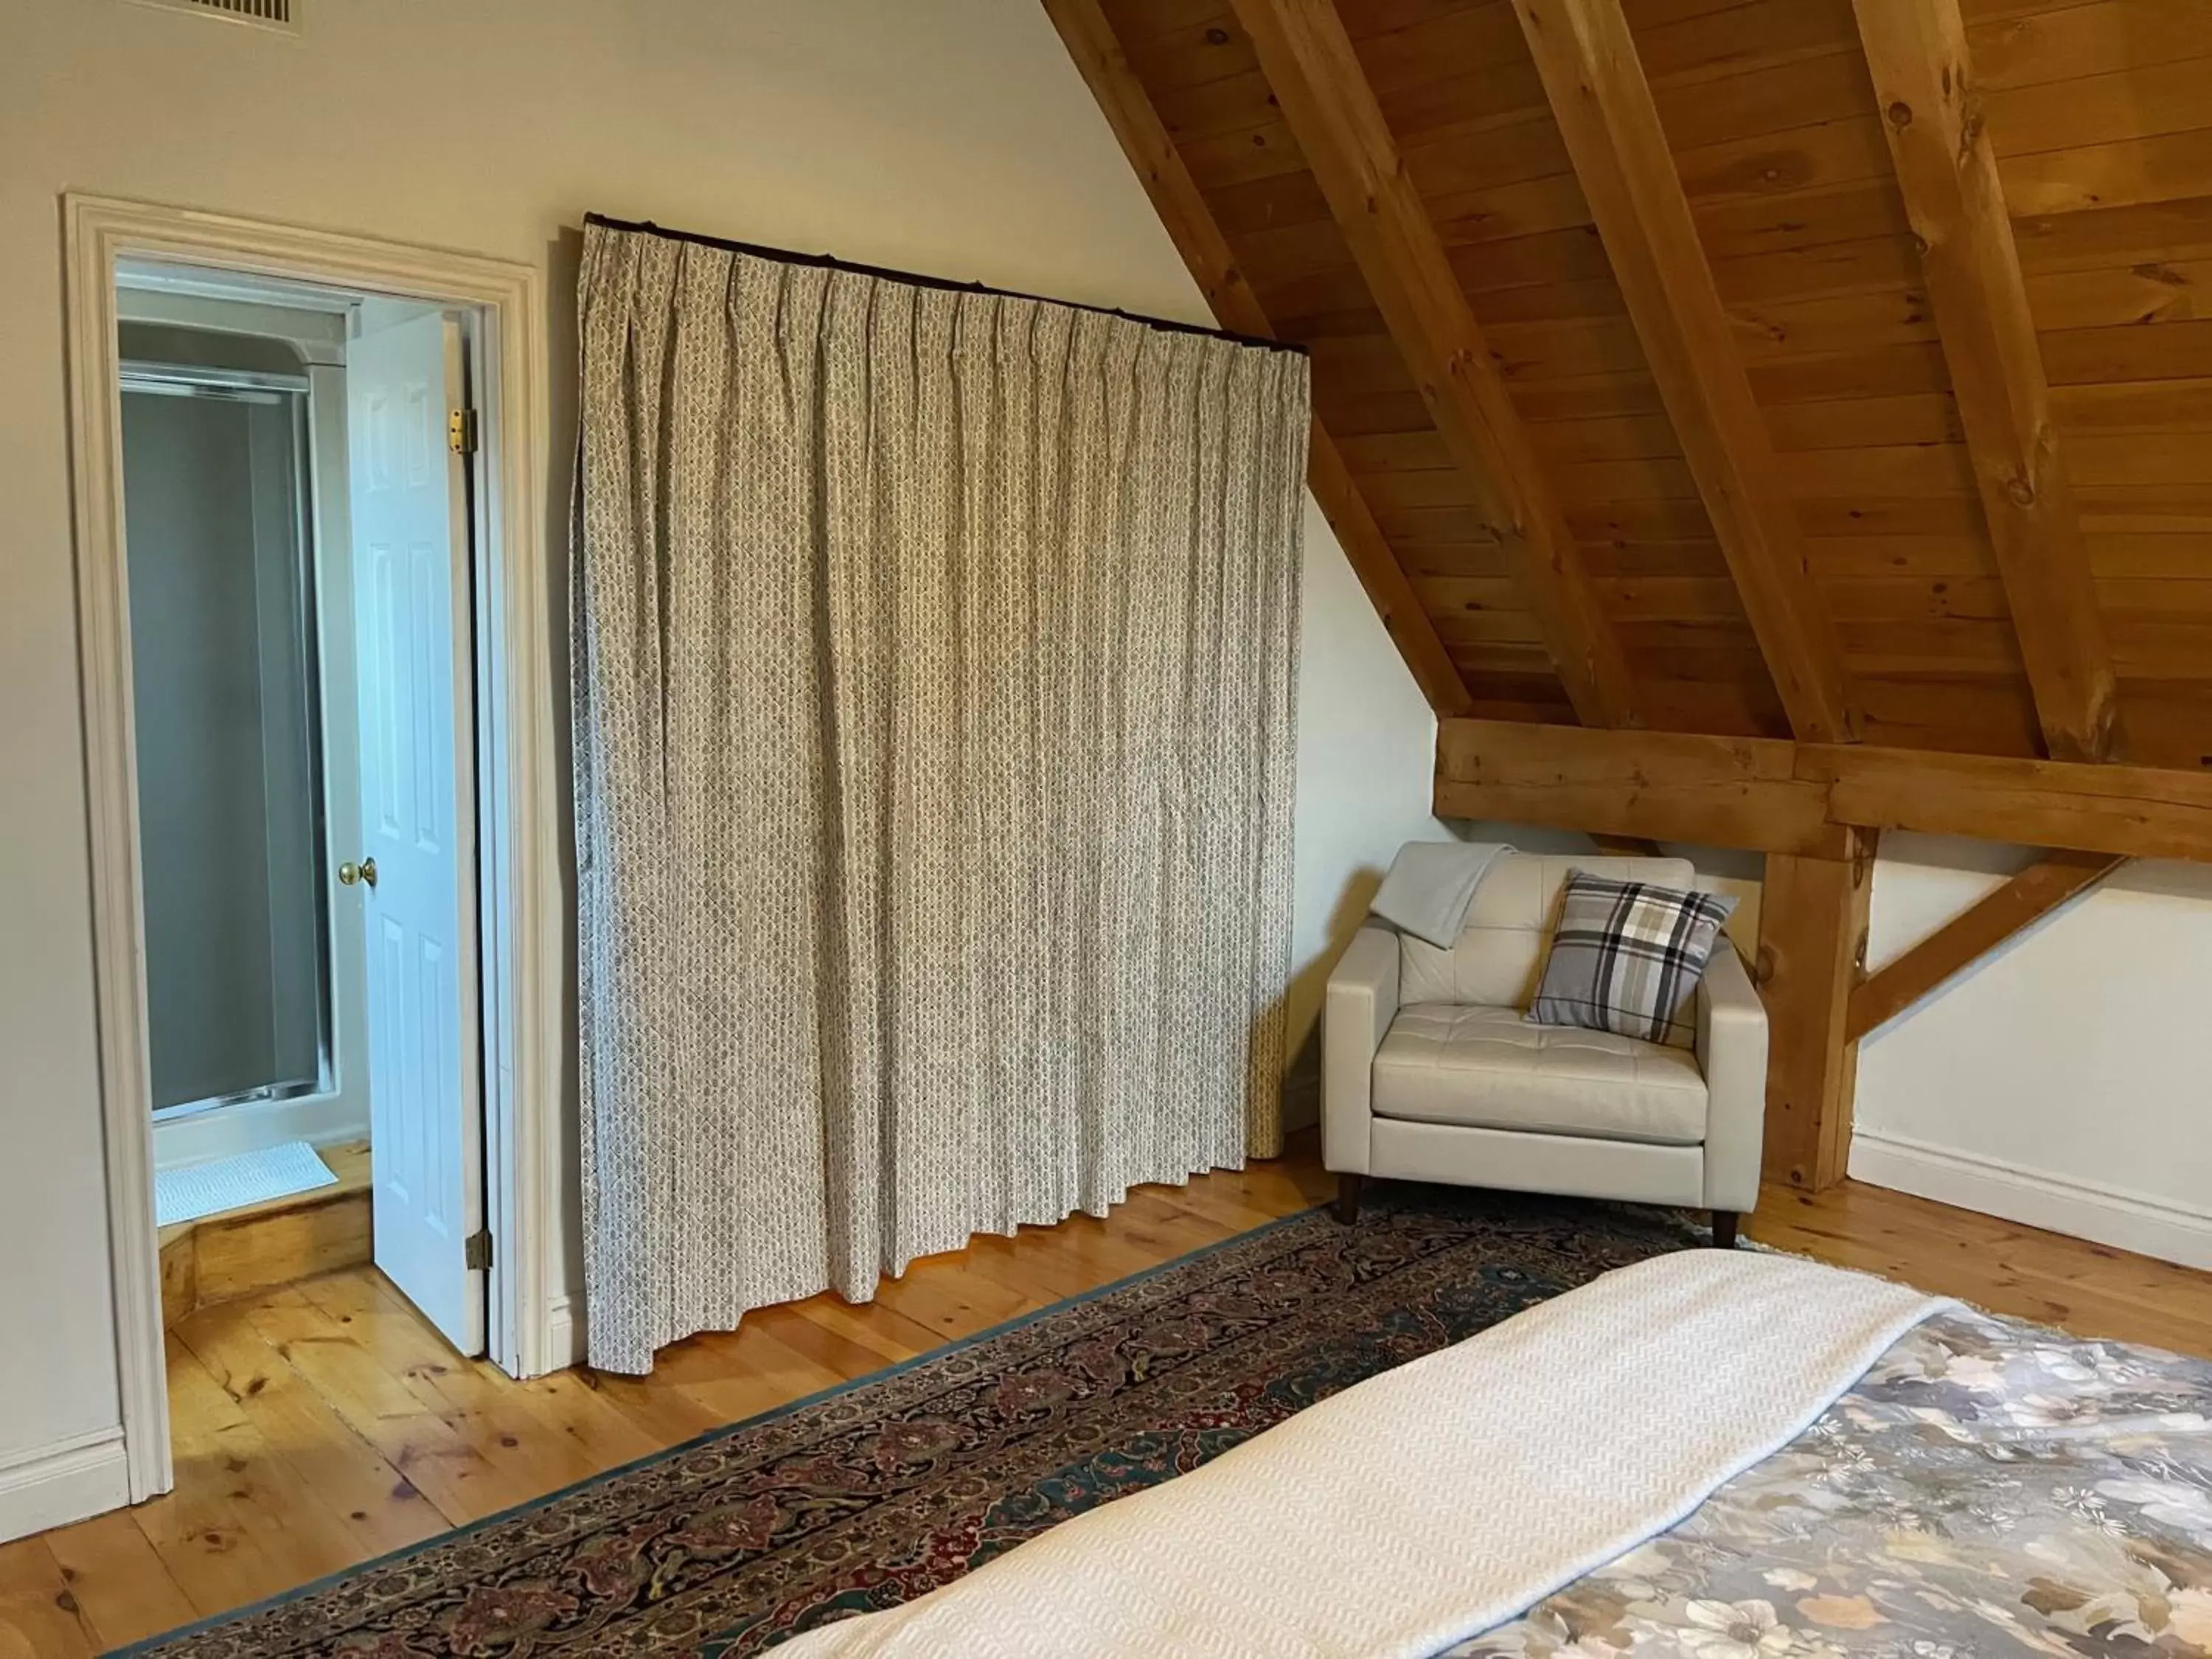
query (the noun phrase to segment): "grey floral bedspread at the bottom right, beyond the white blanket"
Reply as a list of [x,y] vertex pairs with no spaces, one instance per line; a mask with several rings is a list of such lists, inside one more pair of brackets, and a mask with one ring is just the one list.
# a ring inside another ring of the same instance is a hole
[[2212,1655],[2212,1363],[1973,1312],[1462,1659]]

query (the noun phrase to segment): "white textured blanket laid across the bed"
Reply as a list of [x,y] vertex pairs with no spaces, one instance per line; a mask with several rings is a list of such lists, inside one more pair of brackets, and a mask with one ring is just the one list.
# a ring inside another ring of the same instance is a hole
[[1433,1655],[1674,1526],[1944,1305],[1657,1256],[779,1655]]

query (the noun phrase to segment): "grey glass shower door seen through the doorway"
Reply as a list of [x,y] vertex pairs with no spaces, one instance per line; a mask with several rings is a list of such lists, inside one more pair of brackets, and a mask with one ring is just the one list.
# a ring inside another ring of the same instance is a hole
[[126,365],[157,1115],[330,1088],[305,380]]

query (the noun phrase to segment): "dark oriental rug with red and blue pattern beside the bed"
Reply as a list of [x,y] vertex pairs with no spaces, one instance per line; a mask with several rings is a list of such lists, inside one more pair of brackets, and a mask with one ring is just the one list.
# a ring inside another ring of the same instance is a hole
[[761,1652],[1699,1241],[1663,1212],[1391,1188],[1358,1225],[1287,1217],[128,1652]]

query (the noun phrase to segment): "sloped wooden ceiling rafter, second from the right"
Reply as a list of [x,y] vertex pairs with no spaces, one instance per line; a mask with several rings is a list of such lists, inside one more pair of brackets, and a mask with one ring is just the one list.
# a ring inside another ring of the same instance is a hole
[[1790,730],[1858,739],[1843,650],[1621,0],[1513,0]]

